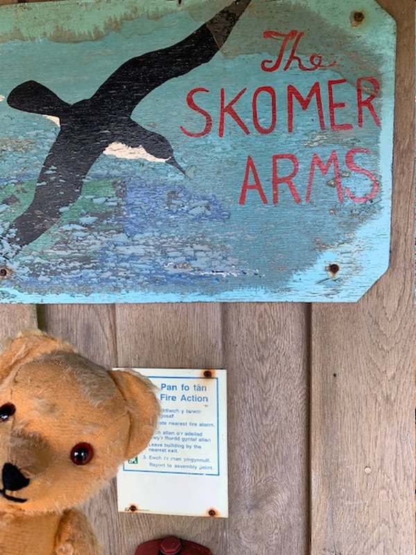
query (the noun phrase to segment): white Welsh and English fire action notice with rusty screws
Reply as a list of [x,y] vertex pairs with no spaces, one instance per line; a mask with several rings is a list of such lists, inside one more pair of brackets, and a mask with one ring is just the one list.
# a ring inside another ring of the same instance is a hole
[[225,370],[137,369],[156,386],[159,426],[117,476],[119,511],[227,517]]

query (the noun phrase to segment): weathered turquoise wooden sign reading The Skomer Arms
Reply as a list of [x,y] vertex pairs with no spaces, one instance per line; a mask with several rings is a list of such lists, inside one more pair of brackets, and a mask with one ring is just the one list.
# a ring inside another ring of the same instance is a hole
[[388,268],[375,0],[0,9],[1,301],[352,301]]

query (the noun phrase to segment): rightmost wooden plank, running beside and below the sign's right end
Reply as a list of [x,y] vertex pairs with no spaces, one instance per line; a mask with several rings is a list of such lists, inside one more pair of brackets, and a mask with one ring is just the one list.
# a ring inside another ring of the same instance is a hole
[[357,305],[312,307],[312,555],[415,553],[415,2],[379,3],[398,24],[392,254]]

